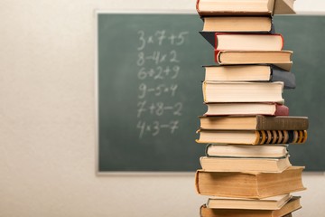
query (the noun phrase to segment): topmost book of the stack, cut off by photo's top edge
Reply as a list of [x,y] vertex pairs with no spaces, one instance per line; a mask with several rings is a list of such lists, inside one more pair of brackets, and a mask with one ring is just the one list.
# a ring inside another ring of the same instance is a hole
[[295,14],[294,0],[197,0],[200,16]]

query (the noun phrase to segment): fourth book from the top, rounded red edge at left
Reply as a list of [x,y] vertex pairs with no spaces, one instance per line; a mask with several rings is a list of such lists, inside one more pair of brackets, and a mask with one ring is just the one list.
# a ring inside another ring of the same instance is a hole
[[274,64],[284,71],[292,68],[292,51],[215,51],[215,61],[220,65]]

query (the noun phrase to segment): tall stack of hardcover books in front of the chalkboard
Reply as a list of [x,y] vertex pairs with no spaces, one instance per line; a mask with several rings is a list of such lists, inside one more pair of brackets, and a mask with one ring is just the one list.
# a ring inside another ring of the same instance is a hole
[[304,166],[287,147],[307,139],[308,118],[292,117],[283,90],[295,88],[292,51],[274,32],[274,14],[294,14],[293,0],[198,0],[201,35],[218,64],[205,66],[198,143],[207,144],[197,192],[209,196],[202,217],[292,216],[300,209]]

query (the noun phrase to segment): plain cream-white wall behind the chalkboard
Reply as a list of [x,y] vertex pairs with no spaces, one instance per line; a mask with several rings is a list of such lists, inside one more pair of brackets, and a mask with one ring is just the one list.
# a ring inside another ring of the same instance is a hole
[[[297,11],[324,11],[300,0]],[[0,217],[199,216],[194,174],[97,176],[94,10],[195,12],[195,0],[0,2]],[[307,144],[308,145],[308,144]],[[307,146],[306,145],[306,146]],[[311,144],[312,146],[312,144]],[[304,173],[294,216],[324,216]]]

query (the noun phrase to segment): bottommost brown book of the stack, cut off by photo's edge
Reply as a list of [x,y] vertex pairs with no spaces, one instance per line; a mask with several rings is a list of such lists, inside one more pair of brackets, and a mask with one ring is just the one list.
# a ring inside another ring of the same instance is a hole
[[203,204],[200,207],[200,217],[292,217],[292,212],[302,208],[300,198],[292,196],[279,210],[210,209]]

